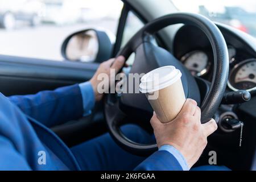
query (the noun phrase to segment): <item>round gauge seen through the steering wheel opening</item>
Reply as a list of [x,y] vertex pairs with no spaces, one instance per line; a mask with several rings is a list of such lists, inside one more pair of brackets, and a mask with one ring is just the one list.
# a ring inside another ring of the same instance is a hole
[[194,76],[202,76],[208,72],[209,61],[204,51],[189,52],[181,57],[181,61]]

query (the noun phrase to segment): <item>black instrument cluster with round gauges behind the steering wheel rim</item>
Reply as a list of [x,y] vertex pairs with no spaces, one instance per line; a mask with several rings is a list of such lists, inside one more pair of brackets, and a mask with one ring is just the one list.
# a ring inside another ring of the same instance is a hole
[[[229,53],[228,89],[256,91],[256,55],[245,40],[232,31],[219,27]],[[213,74],[213,52],[207,36],[194,26],[181,27],[174,39],[174,55],[193,76],[211,81]]]

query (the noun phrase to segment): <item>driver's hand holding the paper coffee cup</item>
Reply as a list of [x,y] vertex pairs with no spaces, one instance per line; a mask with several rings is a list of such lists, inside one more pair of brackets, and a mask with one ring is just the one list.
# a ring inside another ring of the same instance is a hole
[[201,110],[196,101],[187,99],[177,117],[168,123],[162,123],[155,112],[151,118],[158,147],[168,144],[181,152],[188,167],[197,162],[204,148],[207,146],[207,137],[217,130],[214,119],[201,124]]

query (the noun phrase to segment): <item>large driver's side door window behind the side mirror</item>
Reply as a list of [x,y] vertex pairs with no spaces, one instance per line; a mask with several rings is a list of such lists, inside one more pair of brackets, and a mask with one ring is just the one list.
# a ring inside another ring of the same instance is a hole
[[0,0],[0,54],[63,60],[63,40],[98,28],[113,42],[123,3],[119,0]]

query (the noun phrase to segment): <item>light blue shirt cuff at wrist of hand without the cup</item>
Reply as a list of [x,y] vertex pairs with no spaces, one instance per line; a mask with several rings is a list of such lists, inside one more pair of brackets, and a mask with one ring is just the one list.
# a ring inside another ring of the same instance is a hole
[[82,94],[82,106],[83,106],[83,115],[89,115],[95,104],[95,97],[92,85],[90,82],[83,82],[79,84],[81,94]]

